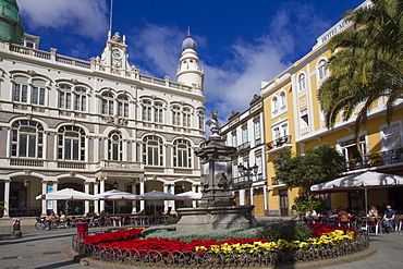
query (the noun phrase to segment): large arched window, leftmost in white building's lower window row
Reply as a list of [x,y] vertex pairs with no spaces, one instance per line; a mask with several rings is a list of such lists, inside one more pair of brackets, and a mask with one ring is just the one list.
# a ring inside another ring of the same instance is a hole
[[11,126],[11,156],[42,158],[44,127],[28,120],[16,121]]

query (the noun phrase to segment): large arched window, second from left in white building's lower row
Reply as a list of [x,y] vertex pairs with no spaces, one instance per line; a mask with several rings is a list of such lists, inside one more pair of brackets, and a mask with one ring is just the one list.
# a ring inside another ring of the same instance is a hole
[[58,131],[58,158],[60,160],[85,160],[85,132],[72,125],[62,126]]

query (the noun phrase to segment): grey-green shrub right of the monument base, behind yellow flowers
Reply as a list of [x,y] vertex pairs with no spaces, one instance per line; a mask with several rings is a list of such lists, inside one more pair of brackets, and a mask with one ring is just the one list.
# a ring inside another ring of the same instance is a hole
[[313,231],[305,223],[296,221],[268,222],[266,227],[257,230],[257,237],[261,240],[305,241],[312,237]]

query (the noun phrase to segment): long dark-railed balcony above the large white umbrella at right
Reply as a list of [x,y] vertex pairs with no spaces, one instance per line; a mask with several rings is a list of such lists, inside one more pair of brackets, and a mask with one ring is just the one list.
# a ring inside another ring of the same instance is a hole
[[396,163],[403,163],[403,148],[365,155],[364,157],[350,159],[346,162],[347,170],[383,167]]

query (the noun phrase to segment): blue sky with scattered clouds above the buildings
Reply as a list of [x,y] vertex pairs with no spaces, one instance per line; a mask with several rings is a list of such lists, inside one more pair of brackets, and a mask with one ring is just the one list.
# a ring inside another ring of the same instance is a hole
[[[17,0],[25,32],[39,49],[88,60],[100,56],[110,0]],[[312,50],[346,10],[364,0],[113,0],[112,33],[126,36],[130,63],[141,73],[175,81],[187,27],[205,71],[206,114],[222,123],[243,112],[260,82]]]

